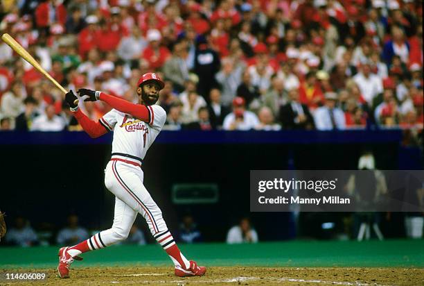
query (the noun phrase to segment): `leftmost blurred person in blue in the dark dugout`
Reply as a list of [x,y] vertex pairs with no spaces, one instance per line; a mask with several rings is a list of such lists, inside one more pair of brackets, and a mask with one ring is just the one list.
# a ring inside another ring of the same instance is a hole
[[34,246],[38,244],[37,234],[24,217],[15,218],[14,226],[9,228],[5,237],[6,244],[15,246]]

